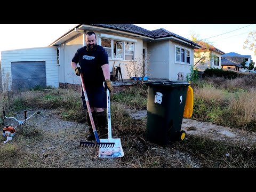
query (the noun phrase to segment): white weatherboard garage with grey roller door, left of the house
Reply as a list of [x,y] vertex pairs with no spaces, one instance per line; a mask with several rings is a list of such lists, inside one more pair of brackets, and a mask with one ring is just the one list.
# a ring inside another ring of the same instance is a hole
[[1,52],[2,87],[25,90],[59,87],[57,47],[34,47]]

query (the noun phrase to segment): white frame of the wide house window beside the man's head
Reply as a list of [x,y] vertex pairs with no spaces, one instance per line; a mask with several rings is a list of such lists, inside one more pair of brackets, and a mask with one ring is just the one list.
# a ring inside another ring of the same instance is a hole
[[[116,39],[116,38],[100,37],[99,38],[99,45],[101,45],[101,39],[110,39],[111,40],[111,57],[108,58],[109,60],[131,61],[129,59],[125,59],[126,55],[132,55],[133,56],[132,61],[135,60],[135,43],[134,42],[123,41],[122,39]],[[123,58],[115,58],[114,57],[114,41],[123,42]],[[130,50],[125,50],[126,43],[133,44],[133,54],[129,54],[129,53],[125,54],[125,51],[130,51]],[[104,47],[104,48],[110,49],[110,47]]]

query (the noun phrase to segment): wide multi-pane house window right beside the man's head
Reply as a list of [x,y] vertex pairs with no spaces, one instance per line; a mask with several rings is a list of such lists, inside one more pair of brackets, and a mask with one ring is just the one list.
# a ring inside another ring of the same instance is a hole
[[109,59],[134,60],[134,43],[101,38],[100,45],[108,53]]

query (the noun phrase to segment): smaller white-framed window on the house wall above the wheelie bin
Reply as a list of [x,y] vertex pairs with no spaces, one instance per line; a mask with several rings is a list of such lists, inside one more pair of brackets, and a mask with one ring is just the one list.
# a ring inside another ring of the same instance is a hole
[[182,64],[190,64],[190,50],[175,45],[175,62]]

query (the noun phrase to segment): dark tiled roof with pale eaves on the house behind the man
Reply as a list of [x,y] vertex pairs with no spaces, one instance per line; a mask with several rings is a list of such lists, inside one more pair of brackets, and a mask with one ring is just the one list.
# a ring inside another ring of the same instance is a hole
[[75,35],[77,35],[77,33],[73,33],[75,28],[76,29],[92,29],[92,27],[103,27],[105,29],[114,29],[114,30],[118,30],[118,31],[124,31],[126,33],[131,33],[131,34],[137,34],[139,36],[145,37],[145,38],[149,38],[152,40],[161,40],[162,38],[170,38],[173,39],[173,41],[183,41],[186,42],[187,44],[193,46],[194,48],[200,48],[201,45],[190,41],[187,38],[181,37],[177,34],[174,34],[164,28],[161,29],[156,29],[156,30],[147,30],[144,29],[142,27],[133,25],[133,24],[79,24],[76,27],[74,27],[73,29],[71,29],[70,31],[68,31],[68,33],[62,35],[60,38],[58,38],[56,41],[54,41],[52,44],[50,44],[49,46],[53,46],[53,45],[59,45],[63,42],[65,42],[68,38],[73,37]]

